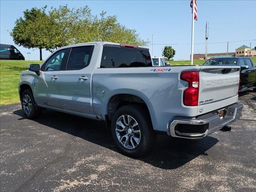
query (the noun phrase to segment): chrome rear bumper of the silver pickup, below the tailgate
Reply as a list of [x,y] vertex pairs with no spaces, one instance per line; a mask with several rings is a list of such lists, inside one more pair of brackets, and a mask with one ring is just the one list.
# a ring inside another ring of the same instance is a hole
[[177,118],[171,122],[168,131],[173,137],[200,139],[236,121],[242,116],[242,108],[242,104],[235,103],[225,107],[223,117],[216,110],[197,118]]

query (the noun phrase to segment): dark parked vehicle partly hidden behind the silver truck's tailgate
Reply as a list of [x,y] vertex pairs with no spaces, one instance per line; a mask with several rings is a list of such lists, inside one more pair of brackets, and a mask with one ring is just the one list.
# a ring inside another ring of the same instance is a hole
[[240,66],[239,92],[253,89],[256,92],[256,67],[250,57],[210,58],[204,65],[236,65]]

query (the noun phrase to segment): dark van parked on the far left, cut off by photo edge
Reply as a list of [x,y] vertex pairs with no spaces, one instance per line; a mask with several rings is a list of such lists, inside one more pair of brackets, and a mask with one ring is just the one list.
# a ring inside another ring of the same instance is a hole
[[0,44],[0,59],[25,60],[21,52],[13,45]]

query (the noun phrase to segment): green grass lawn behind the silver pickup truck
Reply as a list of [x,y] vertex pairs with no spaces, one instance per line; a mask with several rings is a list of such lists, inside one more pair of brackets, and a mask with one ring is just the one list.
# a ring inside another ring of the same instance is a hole
[[[252,58],[256,64],[256,58]],[[28,69],[28,64],[41,64],[42,61],[0,60],[0,105],[20,102],[18,84],[20,73]],[[194,60],[194,65],[201,65],[204,60]],[[189,60],[171,61],[171,65],[190,65]]]

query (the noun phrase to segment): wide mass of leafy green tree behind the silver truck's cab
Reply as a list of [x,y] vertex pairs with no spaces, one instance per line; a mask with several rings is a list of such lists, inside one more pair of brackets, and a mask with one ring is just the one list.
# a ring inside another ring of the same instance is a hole
[[23,18],[16,20],[10,32],[15,44],[25,48],[38,48],[40,60],[42,49],[54,51],[69,44],[110,41],[117,43],[146,45],[148,41],[139,38],[136,30],[128,29],[117,21],[116,16],[98,17],[91,14],[88,6],[68,8],[32,8],[23,12]]

